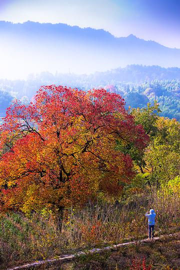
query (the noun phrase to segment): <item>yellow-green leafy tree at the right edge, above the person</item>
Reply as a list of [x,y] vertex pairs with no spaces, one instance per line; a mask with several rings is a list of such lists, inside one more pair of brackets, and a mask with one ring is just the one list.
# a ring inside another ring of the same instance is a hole
[[159,187],[180,171],[180,123],[176,119],[158,117],[157,133],[145,150],[144,160],[151,181]]

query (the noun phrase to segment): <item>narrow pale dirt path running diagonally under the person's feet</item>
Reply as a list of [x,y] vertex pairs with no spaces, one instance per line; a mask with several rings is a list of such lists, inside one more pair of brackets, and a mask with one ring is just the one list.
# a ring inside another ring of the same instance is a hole
[[[174,233],[174,234],[178,234],[178,233]],[[174,236],[174,234],[160,235],[158,237],[154,237],[153,241],[159,240],[160,238],[163,238],[163,237]],[[138,241],[129,241],[129,242],[114,244],[114,245],[105,246],[105,247],[101,247],[101,248],[92,248],[92,249],[89,249],[89,250],[86,250],[86,251],[78,251],[75,254],[66,254],[66,255],[58,256],[56,258],[34,261],[34,262],[31,262],[31,263],[23,264],[21,266],[8,268],[7,270],[25,269],[25,268],[29,268],[29,267],[40,266],[42,264],[50,265],[50,264],[53,264],[53,263],[58,262],[58,261],[65,262],[65,261],[72,260],[75,256],[79,256],[81,254],[86,254],[87,252],[91,252],[91,253],[100,252],[100,251],[103,251],[103,250],[115,249],[115,248],[120,247],[120,246],[136,244],[136,243],[141,243],[141,242],[149,242],[149,240],[146,238],[146,239],[142,239],[142,240],[138,240]]]

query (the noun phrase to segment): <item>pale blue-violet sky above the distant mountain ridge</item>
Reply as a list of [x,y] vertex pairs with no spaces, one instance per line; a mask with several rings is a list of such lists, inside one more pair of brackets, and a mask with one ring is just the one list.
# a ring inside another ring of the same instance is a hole
[[0,0],[0,20],[63,22],[180,48],[180,0]]

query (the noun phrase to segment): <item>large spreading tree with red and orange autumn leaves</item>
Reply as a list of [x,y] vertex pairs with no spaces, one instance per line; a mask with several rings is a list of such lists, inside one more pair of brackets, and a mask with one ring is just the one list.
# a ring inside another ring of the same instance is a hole
[[132,159],[116,149],[143,149],[148,136],[104,89],[87,92],[42,86],[30,104],[15,101],[0,130],[2,209],[59,212],[98,192],[118,195],[133,174]]

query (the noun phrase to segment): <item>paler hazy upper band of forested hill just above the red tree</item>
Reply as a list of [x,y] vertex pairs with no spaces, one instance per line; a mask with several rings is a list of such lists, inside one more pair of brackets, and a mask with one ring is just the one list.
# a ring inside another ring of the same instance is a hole
[[88,90],[90,88],[105,87],[106,85],[136,85],[141,83],[150,84],[154,80],[180,81],[180,68],[164,68],[157,65],[127,65],[124,68],[118,67],[103,72],[92,74],[56,73],[48,71],[31,73],[25,80],[0,79],[0,90],[7,91],[16,98],[23,95],[29,99],[36,93],[41,85],[66,85],[79,89]]

